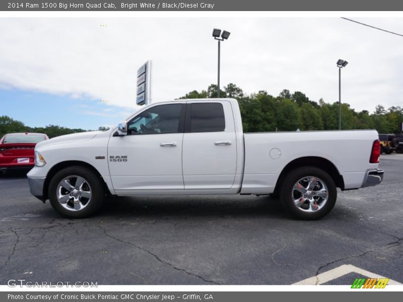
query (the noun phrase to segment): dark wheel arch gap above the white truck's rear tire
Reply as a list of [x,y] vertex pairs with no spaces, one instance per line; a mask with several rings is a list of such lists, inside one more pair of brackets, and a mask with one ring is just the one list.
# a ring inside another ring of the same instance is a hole
[[342,191],[344,191],[344,179],[343,176],[340,175],[339,170],[334,166],[332,162],[329,160],[326,160],[321,157],[301,157],[298,159],[295,159],[288,163],[284,168],[283,171],[281,171],[279,178],[277,179],[276,187],[274,192],[279,192],[280,186],[284,179],[286,178],[287,174],[297,168],[304,167],[304,166],[310,166],[310,167],[316,167],[319,169],[322,169],[326,173],[330,175],[330,177],[333,179],[336,187],[340,188]]

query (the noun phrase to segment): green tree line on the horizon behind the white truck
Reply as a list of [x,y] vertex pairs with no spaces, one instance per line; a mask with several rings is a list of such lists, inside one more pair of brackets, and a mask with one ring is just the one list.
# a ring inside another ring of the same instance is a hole
[[[194,90],[179,99],[216,98],[217,85],[210,85],[207,90]],[[246,96],[235,84],[228,84],[220,90],[220,97],[238,100],[244,132],[270,132],[304,130],[339,129],[339,103],[326,103],[310,100],[304,93],[291,93],[283,90],[277,97],[261,90]],[[403,108],[392,106],[385,109],[377,105],[373,113],[367,110],[356,112],[349,104],[342,104],[342,129],[376,129],[379,133],[400,133],[399,125],[403,122]],[[99,127],[98,130],[105,130]],[[67,128],[58,125],[30,127],[9,116],[0,116],[0,137],[12,132],[46,133],[49,138],[85,132],[81,128]]]

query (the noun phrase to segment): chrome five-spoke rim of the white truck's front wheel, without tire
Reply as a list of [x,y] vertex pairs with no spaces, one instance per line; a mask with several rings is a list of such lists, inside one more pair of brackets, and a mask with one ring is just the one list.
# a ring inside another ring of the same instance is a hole
[[70,211],[79,211],[91,201],[90,184],[81,176],[63,178],[57,185],[56,197],[60,205]]

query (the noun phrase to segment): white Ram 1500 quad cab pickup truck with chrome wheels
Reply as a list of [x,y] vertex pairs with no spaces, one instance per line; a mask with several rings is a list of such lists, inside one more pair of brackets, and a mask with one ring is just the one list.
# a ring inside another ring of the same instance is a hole
[[278,194],[300,219],[334,206],[337,187],[379,184],[375,130],[243,133],[234,99],[153,103],[107,131],[39,142],[31,193],[63,216],[105,195]]

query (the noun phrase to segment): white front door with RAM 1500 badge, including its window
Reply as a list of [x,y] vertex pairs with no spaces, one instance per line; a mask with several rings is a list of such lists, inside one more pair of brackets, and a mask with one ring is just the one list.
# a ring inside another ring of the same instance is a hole
[[155,105],[127,123],[127,135],[110,138],[108,163],[115,191],[184,189],[184,112],[182,103]]

